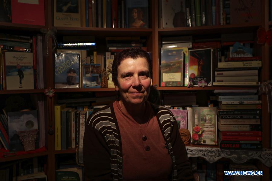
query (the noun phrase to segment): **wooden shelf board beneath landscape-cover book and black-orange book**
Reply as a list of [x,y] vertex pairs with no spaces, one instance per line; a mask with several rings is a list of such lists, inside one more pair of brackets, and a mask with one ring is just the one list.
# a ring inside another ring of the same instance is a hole
[[210,87],[157,87],[158,90],[247,90],[257,89],[258,87],[221,87],[221,86],[210,86]]

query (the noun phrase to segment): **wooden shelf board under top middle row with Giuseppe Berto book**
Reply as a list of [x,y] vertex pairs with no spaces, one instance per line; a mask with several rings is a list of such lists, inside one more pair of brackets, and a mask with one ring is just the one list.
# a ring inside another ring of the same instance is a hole
[[92,28],[92,27],[56,27],[57,34],[61,35],[90,35],[105,36],[148,36],[151,28]]

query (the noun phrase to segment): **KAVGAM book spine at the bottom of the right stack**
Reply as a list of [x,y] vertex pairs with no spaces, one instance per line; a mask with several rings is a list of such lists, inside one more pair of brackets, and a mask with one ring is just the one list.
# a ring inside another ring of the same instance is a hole
[[221,149],[261,149],[261,143],[224,143],[220,142]]

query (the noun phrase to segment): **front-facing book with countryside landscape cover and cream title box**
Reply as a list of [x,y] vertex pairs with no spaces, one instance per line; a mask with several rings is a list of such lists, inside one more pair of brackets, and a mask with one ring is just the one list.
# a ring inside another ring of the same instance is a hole
[[160,86],[183,86],[183,48],[162,48]]

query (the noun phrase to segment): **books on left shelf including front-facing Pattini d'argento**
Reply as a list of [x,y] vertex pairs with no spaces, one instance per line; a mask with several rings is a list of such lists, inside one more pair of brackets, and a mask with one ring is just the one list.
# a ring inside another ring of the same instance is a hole
[[42,35],[0,34],[0,90],[43,89]]

